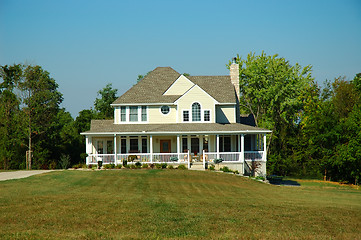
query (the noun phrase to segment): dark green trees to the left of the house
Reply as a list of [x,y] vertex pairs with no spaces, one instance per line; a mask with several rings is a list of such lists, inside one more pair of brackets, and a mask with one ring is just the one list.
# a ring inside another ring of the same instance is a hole
[[[98,92],[94,109],[74,120],[60,107],[63,95],[40,66],[0,66],[0,168],[55,169],[84,163],[85,137],[91,119],[112,118],[117,90]],[[64,162],[66,163],[64,165]]]

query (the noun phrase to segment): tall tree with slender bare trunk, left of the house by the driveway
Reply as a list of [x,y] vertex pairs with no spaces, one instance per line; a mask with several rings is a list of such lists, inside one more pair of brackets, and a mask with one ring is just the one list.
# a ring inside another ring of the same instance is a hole
[[28,124],[28,169],[32,168],[33,152],[37,160],[36,167],[48,166],[50,153],[45,147],[48,143],[47,137],[63,101],[57,88],[58,84],[50,77],[49,72],[40,66],[24,66],[20,89]]

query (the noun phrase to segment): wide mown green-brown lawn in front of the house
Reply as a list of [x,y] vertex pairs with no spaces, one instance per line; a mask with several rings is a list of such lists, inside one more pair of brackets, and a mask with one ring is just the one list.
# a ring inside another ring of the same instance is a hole
[[0,182],[0,239],[361,239],[361,191],[187,170]]

